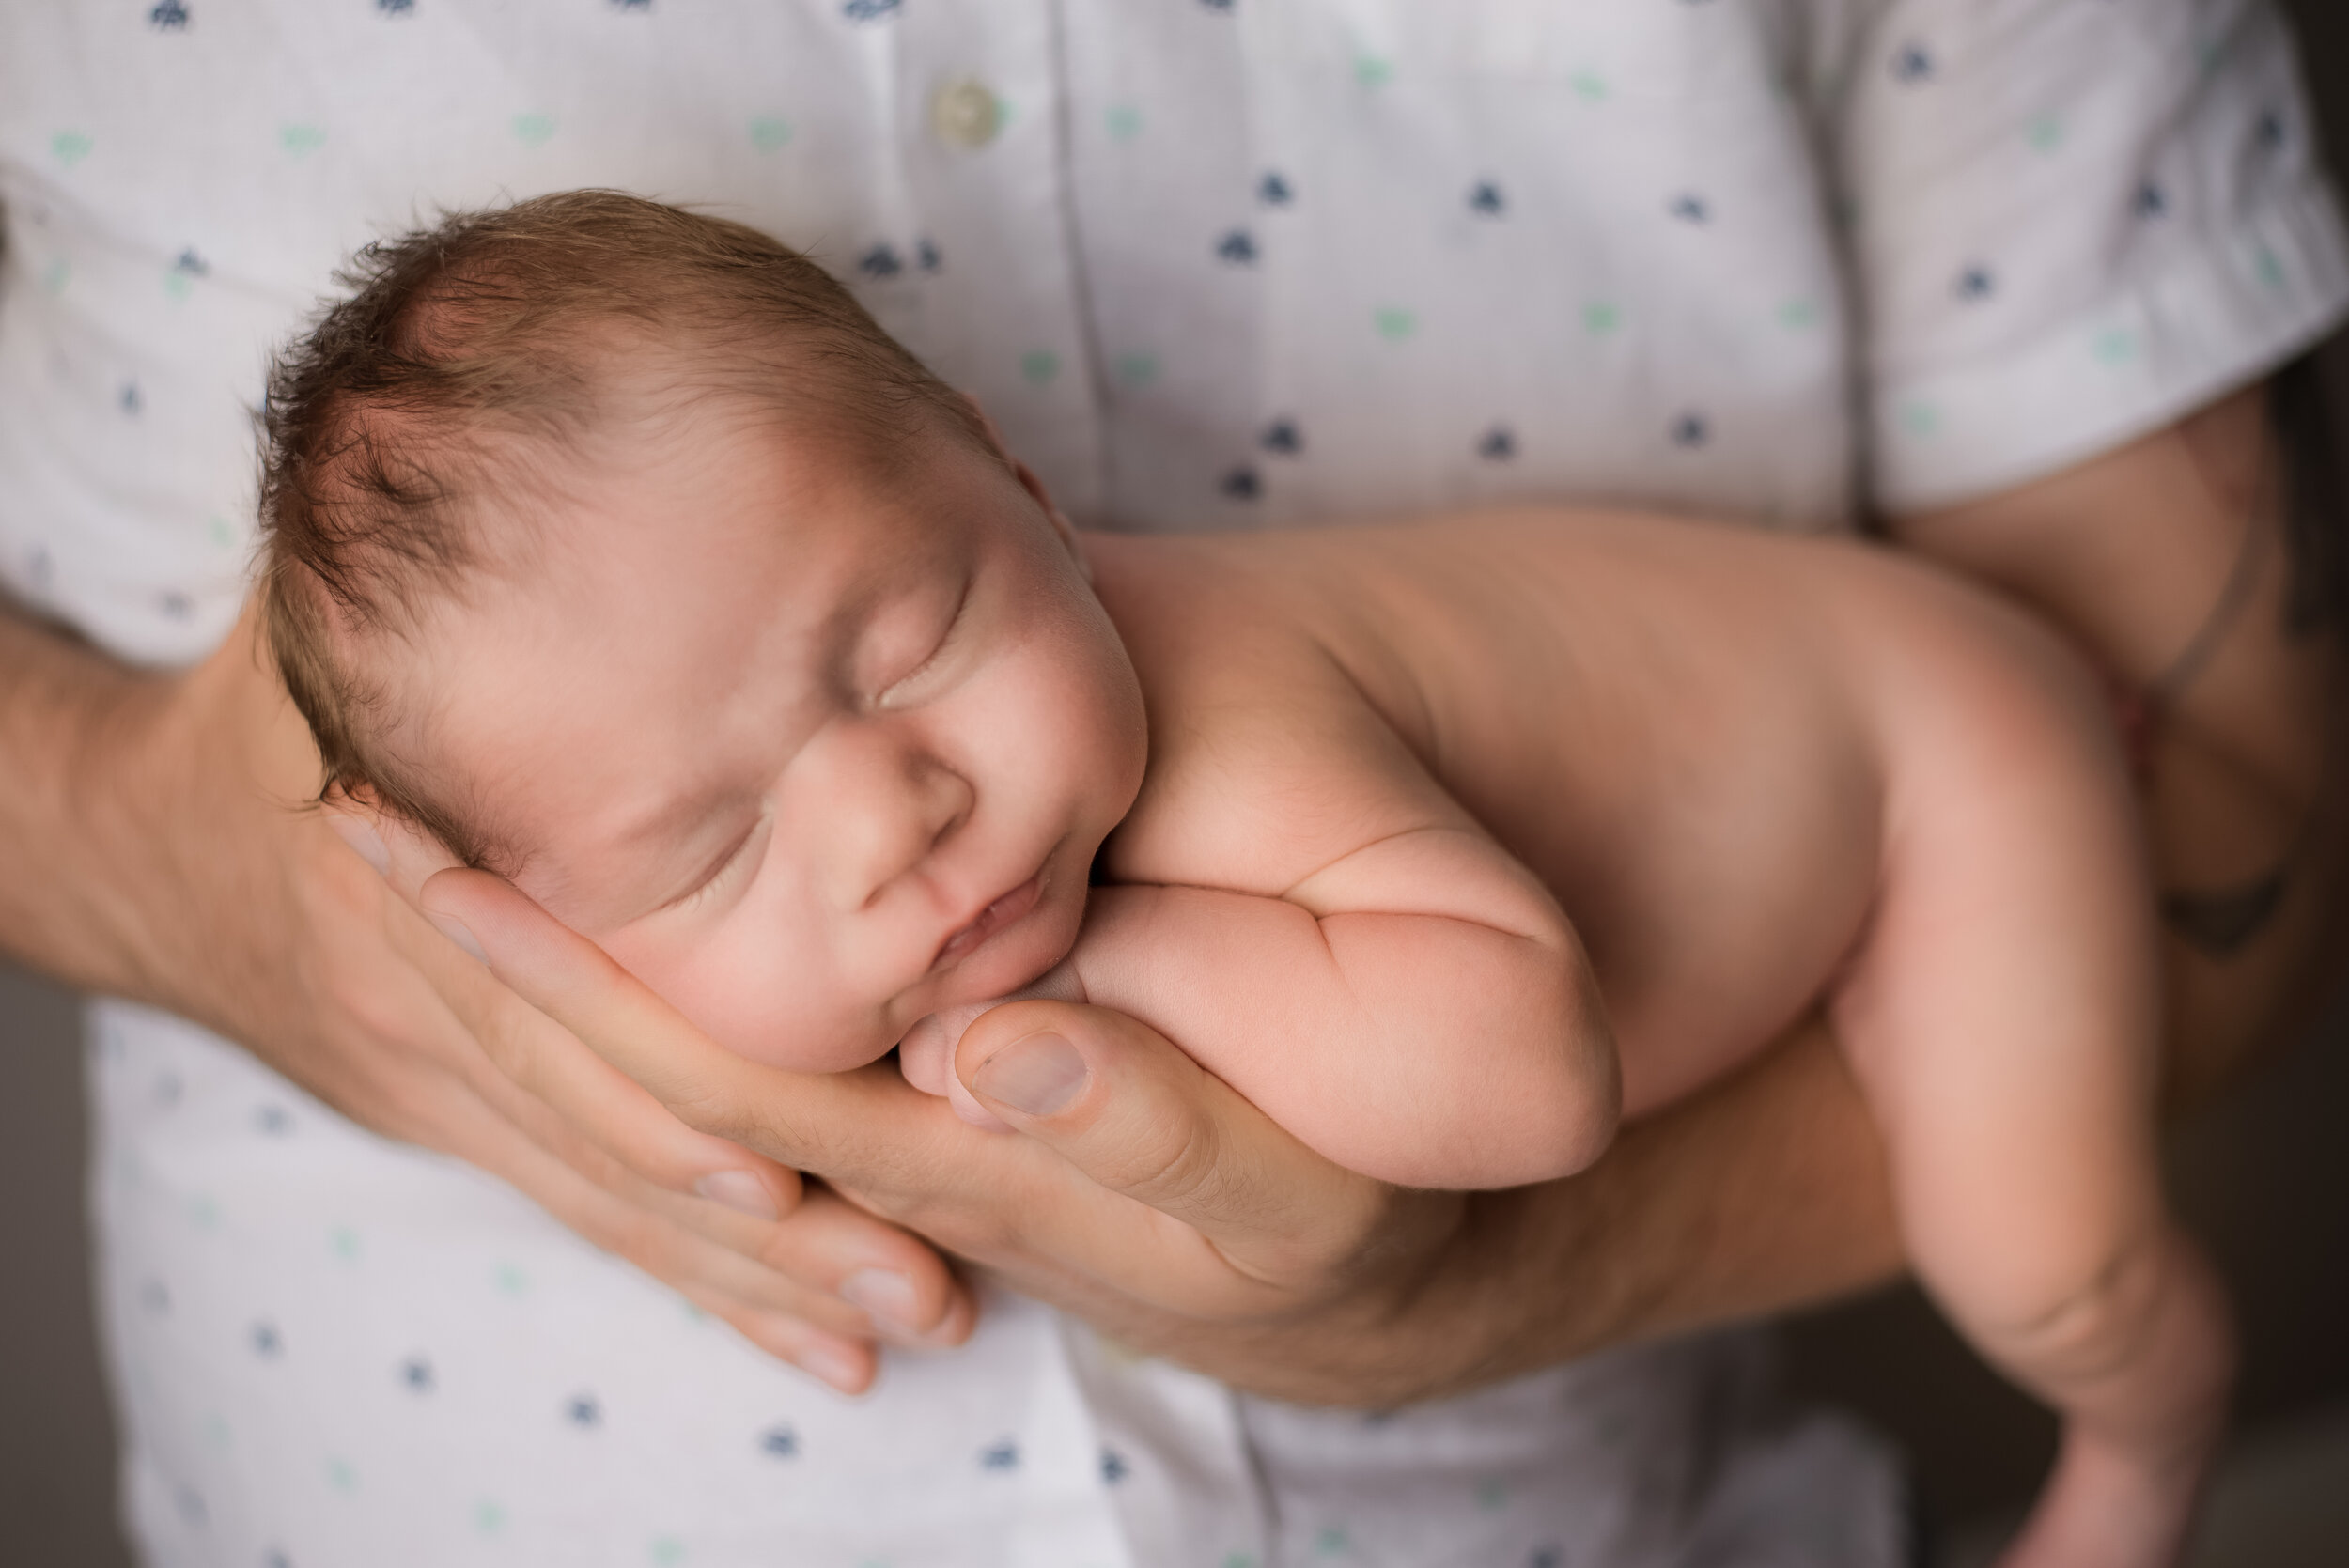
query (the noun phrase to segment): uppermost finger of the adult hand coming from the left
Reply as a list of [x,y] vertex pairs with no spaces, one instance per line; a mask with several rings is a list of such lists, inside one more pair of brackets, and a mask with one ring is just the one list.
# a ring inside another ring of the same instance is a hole
[[411,930],[395,932],[395,941],[514,1084],[653,1185],[698,1195],[756,1221],[792,1211],[799,1202],[796,1171],[679,1122],[660,1099],[477,962],[484,953],[470,927],[435,913],[425,908],[442,927],[439,937],[411,920]]

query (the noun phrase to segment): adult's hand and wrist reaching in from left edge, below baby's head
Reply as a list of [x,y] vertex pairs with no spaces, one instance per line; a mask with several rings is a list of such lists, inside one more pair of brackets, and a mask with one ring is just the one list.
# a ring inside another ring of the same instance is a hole
[[317,753],[249,622],[167,678],[0,620],[0,946],[190,1016],[348,1117],[505,1178],[829,1383],[871,1378],[883,1326],[968,1333],[930,1249],[803,1199],[794,1171],[608,1068],[554,1099],[503,1073],[479,1035],[536,1014],[305,805]]

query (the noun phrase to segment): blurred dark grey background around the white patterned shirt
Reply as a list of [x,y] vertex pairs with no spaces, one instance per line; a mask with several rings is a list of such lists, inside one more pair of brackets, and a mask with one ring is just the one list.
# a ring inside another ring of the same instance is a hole
[[[2288,0],[2349,169],[2349,7]],[[2335,340],[2349,460],[2349,343]],[[0,1566],[129,1563],[113,1512],[113,1415],[92,1329],[82,1068],[68,995],[0,965]],[[2234,1286],[2239,1432],[2196,1563],[2349,1563],[2349,1007],[2173,1138],[2187,1221]],[[1790,1380],[1898,1434],[1950,1563],[1980,1561],[2053,1453],[2053,1422],[1987,1373],[1914,1291],[1816,1312]]]

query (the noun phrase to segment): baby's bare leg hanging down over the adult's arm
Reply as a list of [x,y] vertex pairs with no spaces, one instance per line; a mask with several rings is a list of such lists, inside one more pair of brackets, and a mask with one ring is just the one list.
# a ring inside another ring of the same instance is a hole
[[1919,1277],[2065,1413],[2006,1568],[2154,1568],[2192,1523],[2232,1338],[2161,1204],[2126,775],[2084,683],[2022,653],[1896,723],[1882,894],[1835,1019]]

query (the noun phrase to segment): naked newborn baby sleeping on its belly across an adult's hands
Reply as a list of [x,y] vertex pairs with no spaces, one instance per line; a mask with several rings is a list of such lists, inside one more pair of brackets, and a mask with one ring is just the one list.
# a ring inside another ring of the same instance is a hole
[[2154,1176],[2088,681],[1882,552],[1527,512],[1076,535],[815,265],[608,192],[373,246],[270,385],[329,789],[808,1070],[1045,984],[1398,1183],[1581,1169],[1820,998],[1910,1256],[2175,1556],[2225,1312]]

